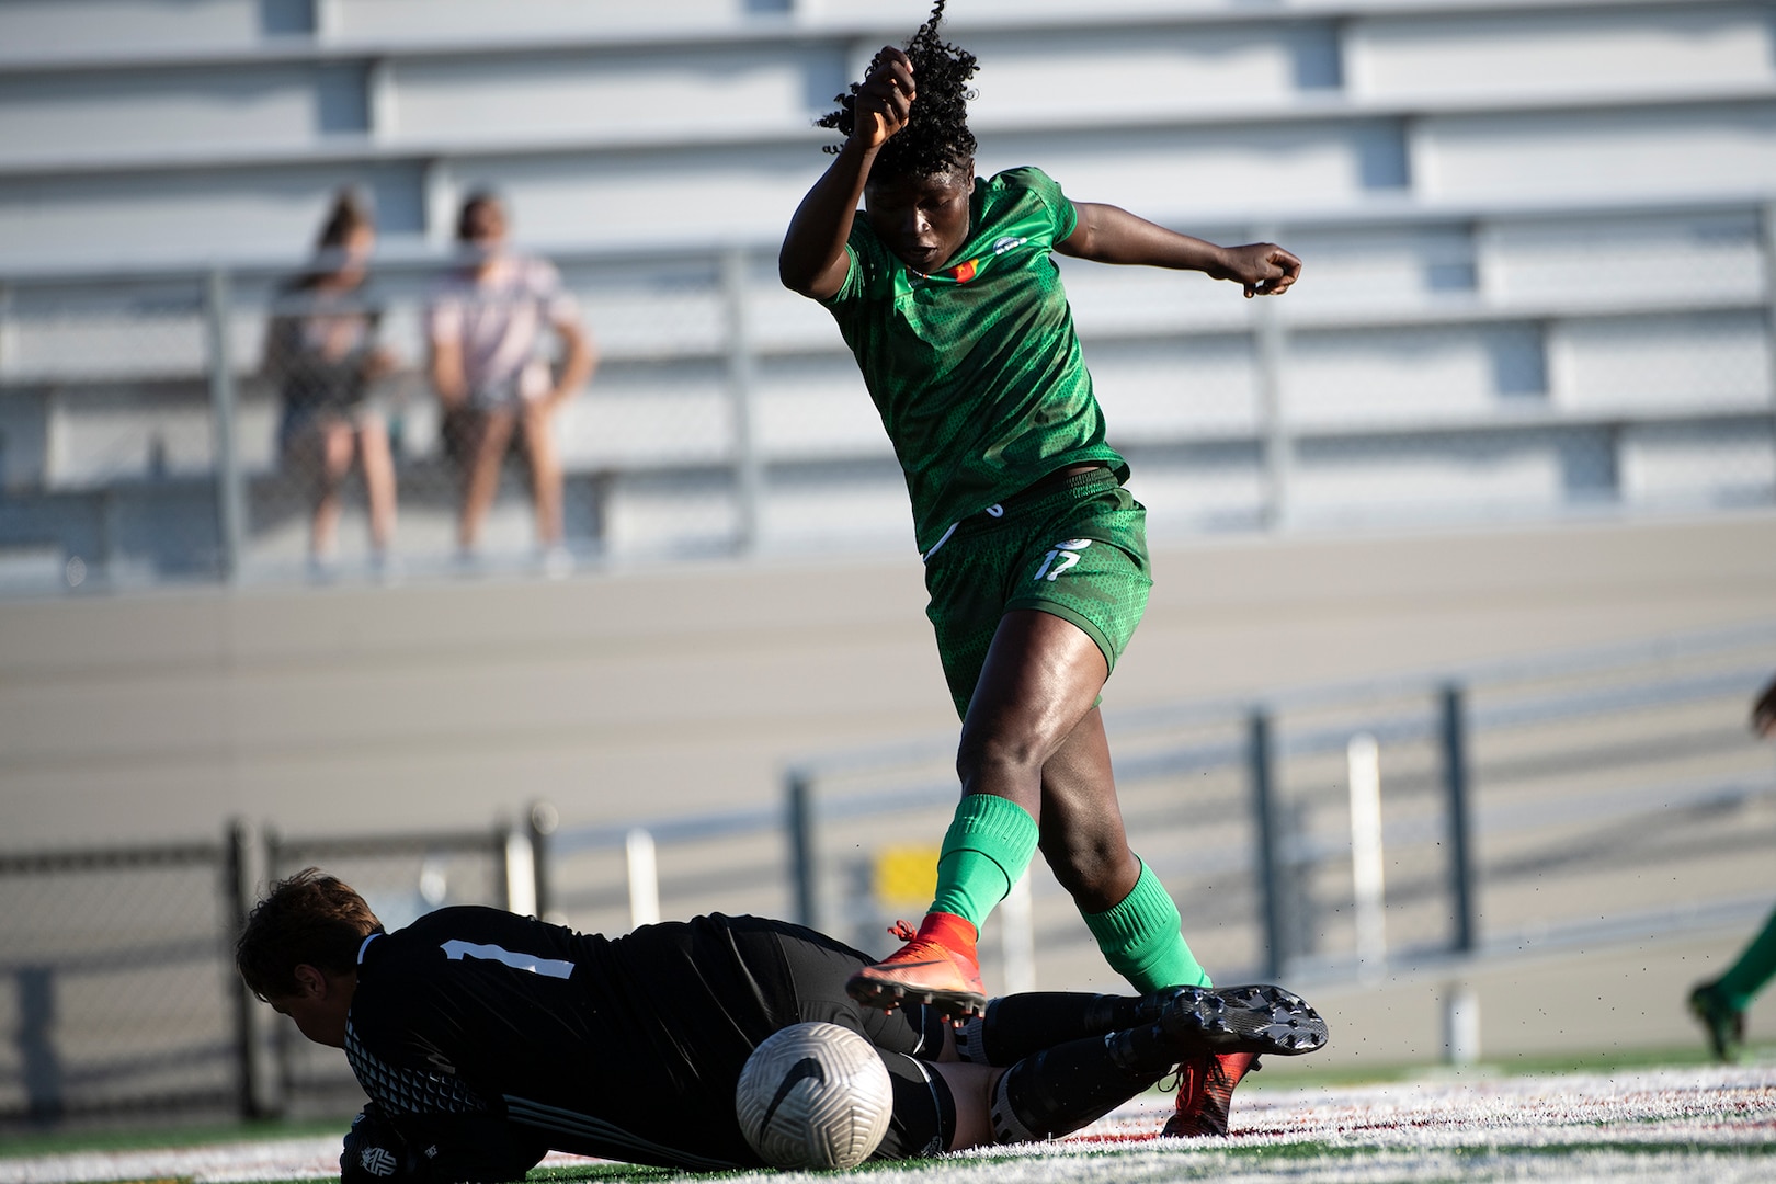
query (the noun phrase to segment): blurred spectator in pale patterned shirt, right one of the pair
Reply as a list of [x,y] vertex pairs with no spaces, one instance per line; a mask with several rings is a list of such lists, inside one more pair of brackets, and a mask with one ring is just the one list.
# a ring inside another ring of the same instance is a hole
[[[579,305],[545,259],[508,249],[506,208],[494,193],[472,193],[456,220],[465,268],[432,302],[432,383],[444,405],[444,447],[464,469],[456,541],[472,556],[499,469],[517,444],[531,470],[536,541],[551,572],[570,566],[561,545],[561,460],[551,435],[556,410],[591,378],[599,355]],[[561,339],[551,373],[542,357],[543,328]]]

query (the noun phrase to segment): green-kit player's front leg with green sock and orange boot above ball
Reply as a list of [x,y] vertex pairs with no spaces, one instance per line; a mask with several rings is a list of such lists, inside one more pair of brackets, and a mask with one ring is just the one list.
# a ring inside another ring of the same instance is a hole
[[1034,609],[1000,620],[963,721],[963,804],[938,864],[938,898],[918,932],[902,934],[902,950],[851,978],[854,999],[916,999],[950,1015],[986,1006],[975,955],[980,921],[1023,875],[1043,809],[1043,767],[1092,708],[1105,676],[1103,653],[1071,621]]

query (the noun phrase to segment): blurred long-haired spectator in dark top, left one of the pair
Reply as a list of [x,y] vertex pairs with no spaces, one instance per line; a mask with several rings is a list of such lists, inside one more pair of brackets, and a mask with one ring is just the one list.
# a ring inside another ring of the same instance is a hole
[[382,311],[368,284],[375,245],[369,211],[341,192],[314,261],[277,293],[266,330],[265,373],[282,398],[279,453],[313,490],[309,563],[316,572],[332,561],[339,490],[353,460],[364,469],[373,564],[387,564],[394,536],[389,433],[366,401],[369,383],[394,369],[394,355],[377,344]]

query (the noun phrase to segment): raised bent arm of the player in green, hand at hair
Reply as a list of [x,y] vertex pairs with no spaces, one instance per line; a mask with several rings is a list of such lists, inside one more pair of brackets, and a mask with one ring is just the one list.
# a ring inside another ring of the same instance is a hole
[[906,126],[913,98],[913,62],[904,51],[884,46],[851,96],[849,108],[842,112],[851,126],[844,126],[844,117],[836,121],[845,133],[838,158],[801,199],[789,233],[783,234],[778,277],[785,288],[824,300],[845,282],[845,240],[851,236],[858,202],[863,201],[870,163],[888,137]]

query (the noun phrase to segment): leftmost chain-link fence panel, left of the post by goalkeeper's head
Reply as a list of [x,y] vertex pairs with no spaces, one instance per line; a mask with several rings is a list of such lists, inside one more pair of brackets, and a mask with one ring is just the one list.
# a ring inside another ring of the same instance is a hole
[[0,856],[0,1124],[238,1113],[238,845]]

